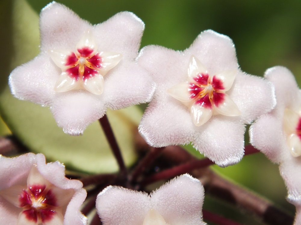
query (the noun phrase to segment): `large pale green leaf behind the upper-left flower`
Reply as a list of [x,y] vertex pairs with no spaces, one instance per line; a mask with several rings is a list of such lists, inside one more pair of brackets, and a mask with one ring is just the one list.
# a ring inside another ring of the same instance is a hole
[[[4,13],[0,17],[0,28],[6,29],[6,33],[1,34],[2,40],[6,42],[1,42],[0,45],[10,53],[6,61],[1,62],[1,67],[13,69],[39,53],[39,16],[24,0],[1,1],[0,12]],[[3,23],[5,18],[9,18],[8,24]],[[1,75],[6,83],[10,70]],[[82,136],[69,136],[57,126],[48,107],[14,98],[8,85],[2,86],[1,91],[2,119],[32,152],[43,153],[48,161],[57,160],[69,169],[86,173],[118,170],[98,121],[88,126]],[[137,130],[142,112],[137,106],[132,106],[123,110],[109,110],[107,116],[125,164],[130,166],[137,158],[134,151],[134,131]]]

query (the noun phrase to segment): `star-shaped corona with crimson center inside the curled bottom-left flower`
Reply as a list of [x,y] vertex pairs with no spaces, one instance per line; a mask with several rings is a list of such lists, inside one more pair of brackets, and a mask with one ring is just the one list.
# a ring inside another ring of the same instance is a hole
[[73,189],[62,189],[46,180],[33,165],[27,177],[27,185],[15,185],[0,191],[8,202],[22,208],[17,224],[63,225],[63,206],[74,194]]

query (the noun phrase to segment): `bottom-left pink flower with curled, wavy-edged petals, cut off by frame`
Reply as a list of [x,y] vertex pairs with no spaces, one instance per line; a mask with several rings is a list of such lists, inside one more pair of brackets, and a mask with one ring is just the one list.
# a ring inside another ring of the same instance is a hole
[[42,154],[0,156],[0,218],[3,224],[84,225],[82,183],[64,176],[64,165],[45,164]]

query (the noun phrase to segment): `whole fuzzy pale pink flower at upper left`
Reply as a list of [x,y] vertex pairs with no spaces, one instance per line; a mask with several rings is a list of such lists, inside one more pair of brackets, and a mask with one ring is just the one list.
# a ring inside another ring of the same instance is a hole
[[41,53],[12,71],[11,92],[50,106],[65,133],[82,134],[107,108],[151,100],[154,82],[135,61],[143,30],[144,23],[130,12],[92,26],[50,3],[40,15]]

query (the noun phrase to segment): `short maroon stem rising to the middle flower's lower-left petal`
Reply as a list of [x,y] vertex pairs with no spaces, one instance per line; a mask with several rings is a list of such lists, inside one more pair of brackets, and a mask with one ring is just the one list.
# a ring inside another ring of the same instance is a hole
[[140,161],[135,171],[132,173],[131,182],[135,183],[139,175],[151,165],[156,157],[162,152],[163,148],[152,148],[151,151]]

